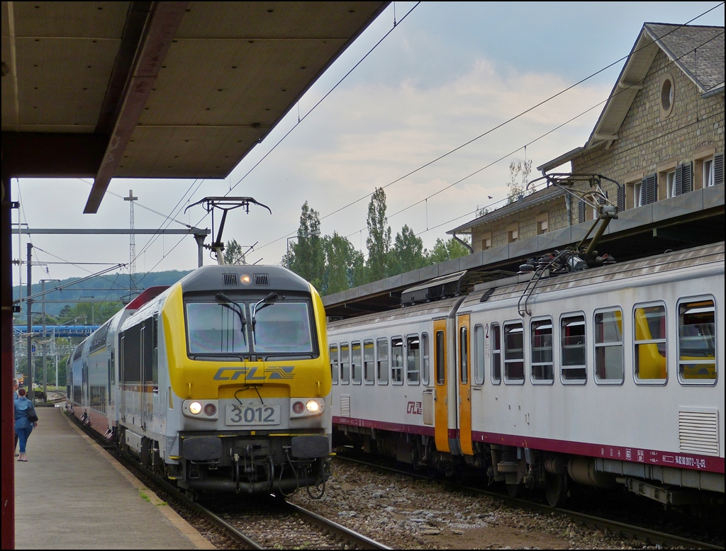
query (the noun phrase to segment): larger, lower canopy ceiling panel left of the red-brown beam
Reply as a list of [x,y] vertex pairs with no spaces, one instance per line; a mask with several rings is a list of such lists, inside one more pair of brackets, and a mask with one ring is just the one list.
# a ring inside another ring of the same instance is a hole
[[19,124],[90,126],[93,131],[120,41],[17,38],[15,42]]

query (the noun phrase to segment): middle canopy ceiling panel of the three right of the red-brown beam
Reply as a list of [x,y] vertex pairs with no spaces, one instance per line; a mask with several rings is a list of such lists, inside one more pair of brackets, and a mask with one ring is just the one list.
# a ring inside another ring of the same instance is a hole
[[139,123],[269,128],[343,43],[176,41]]

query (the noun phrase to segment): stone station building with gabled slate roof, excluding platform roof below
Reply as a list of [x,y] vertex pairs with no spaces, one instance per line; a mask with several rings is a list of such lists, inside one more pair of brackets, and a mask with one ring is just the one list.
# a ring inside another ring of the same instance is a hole
[[[537,170],[568,162],[563,172],[621,183],[603,181],[603,190],[620,212],[636,211],[621,216],[644,223],[652,220],[640,210],[648,204],[665,201],[677,217],[699,202],[699,190],[723,184],[724,28],[645,23],[590,138]],[[549,187],[447,233],[469,234],[481,252],[595,218],[584,202]]]

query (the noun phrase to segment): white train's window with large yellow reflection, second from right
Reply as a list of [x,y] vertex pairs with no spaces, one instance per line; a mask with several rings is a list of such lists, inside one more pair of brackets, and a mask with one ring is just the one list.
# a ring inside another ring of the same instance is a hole
[[668,379],[666,307],[635,305],[633,332],[635,382],[665,384]]

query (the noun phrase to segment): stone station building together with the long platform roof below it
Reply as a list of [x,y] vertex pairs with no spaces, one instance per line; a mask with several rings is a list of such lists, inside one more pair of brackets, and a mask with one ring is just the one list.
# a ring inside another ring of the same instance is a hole
[[[609,179],[602,188],[619,212],[601,242],[616,260],[724,240],[724,51],[723,27],[645,23],[590,138],[537,167]],[[329,295],[326,310],[349,317],[399,307],[406,289],[464,272],[457,289],[465,291],[578,244],[596,218],[563,188],[540,187],[447,231],[471,236],[468,256]]]

